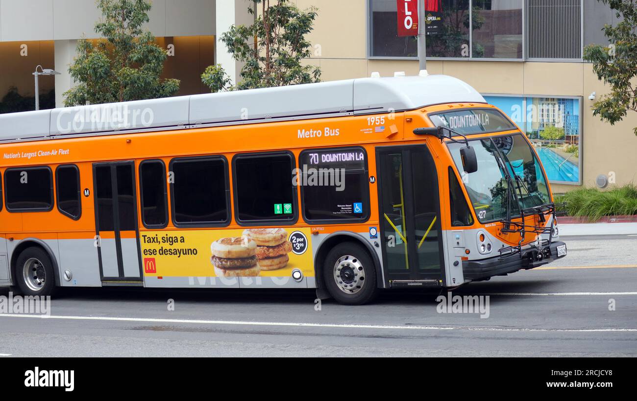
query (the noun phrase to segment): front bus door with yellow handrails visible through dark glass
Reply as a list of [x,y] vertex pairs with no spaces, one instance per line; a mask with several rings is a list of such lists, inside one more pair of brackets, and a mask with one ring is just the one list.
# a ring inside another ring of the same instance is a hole
[[390,286],[444,280],[436,165],[427,146],[376,148],[380,239]]

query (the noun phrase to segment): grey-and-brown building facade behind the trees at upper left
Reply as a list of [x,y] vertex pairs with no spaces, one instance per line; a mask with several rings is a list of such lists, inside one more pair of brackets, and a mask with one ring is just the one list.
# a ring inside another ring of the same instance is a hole
[[[180,95],[207,92],[199,76],[215,62],[233,78],[240,71],[215,38],[217,27],[224,32],[233,24],[250,24],[250,6],[245,0],[152,0],[147,28],[171,50],[164,77],[182,81]],[[32,98],[32,73],[41,65],[61,73],[39,77],[42,108],[61,107],[62,94],[73,85],[68,67],[77,41],[96,39],[100,18],[94,0],[0,0],[0,99]]]

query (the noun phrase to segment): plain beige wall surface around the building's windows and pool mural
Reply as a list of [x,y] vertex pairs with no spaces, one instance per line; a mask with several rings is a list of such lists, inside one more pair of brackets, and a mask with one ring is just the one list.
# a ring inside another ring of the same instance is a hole
[[[416,60],[367,59],[366,0],[296,0],[300,8],[318,7],[315,29],[309,35],[320,53],[308,63],[320,66],[324,81],[361,78],[378,71],[392,76],[394,71],[417,74]],[[599,174],[615,173],[617,184],[637,183],[637,113],[612,126],[592,115],[592,101],[608,91],[585,63],[564,62],[492,62],[429,61],[430,74],[447,74],[466,81],[478,91],[489,94],[555,95],[583,97],[582,162],[583,185],[594,186]],[[552,185],[554,192],[566,192],[576,186]]]

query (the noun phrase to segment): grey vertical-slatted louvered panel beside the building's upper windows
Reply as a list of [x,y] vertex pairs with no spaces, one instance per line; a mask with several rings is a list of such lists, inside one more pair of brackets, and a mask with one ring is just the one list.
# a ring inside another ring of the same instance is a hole
[[528,0],[529,59],[582,59],[582,0]]

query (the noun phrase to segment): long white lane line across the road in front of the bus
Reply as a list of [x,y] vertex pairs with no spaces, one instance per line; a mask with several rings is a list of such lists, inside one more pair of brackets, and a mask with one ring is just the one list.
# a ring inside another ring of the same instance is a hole
[[471,327],[471,326],[422,326],[422,325],[344,325],[337,323],[296,323],[289,321],[240,321],[240,320],[196,320],[196,319],[160,319],[160,318],[116,318],[111,316],[47,316],[45,314],[9,314],[0,316],[10,318],[39,318],[66,320],[106,320],[137,321],[148,323],[195,323],[201,325],[238,325],[238,326],[285,326],[285,327],[321,327],[321,328],[378,328],[389,330],[474,330],[489,332],[637,332],[637,328],[526,328],[526,327]]

